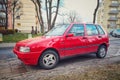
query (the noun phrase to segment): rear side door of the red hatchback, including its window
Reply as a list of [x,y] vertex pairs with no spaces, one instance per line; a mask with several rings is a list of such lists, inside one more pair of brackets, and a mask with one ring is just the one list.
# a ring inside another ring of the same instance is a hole
[[96,52],[100,44],[101,37],[97,27],[93,24],[86,24],[86,35],[87,35],[87,53]]

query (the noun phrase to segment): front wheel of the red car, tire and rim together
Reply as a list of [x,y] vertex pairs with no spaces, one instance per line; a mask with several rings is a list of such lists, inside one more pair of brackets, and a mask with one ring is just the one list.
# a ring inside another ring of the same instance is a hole
[[53,50],[43,52],[39,59],[39,66],[43,69],[52,69],[59,62],[58,54]]

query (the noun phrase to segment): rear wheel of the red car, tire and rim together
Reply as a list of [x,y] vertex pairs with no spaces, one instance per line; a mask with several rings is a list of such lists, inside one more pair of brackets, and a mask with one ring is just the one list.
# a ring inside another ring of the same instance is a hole
[[102,46],[99,47],[99,49],[96,53],[96,56],[98,58],[104,58],[104,57],[106,57],[106,54],[107,54],[106,46],[102,45]]

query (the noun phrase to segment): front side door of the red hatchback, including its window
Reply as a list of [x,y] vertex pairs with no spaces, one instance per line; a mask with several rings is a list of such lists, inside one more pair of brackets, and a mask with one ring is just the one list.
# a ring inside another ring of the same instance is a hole
[[73,24],[67,34],[74,36],[67,36],[65,38],[65,55],[82,54],[86,50],[85,27],[83,24]]

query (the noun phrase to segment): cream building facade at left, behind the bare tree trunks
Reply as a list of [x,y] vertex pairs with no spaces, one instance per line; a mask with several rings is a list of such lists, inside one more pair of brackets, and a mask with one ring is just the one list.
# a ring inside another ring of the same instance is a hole
[[[34,30],[37,28],[40,31],[33,2],[31,0],[20,0],[19,4],[21,7],[15,14],[15,29],[30,33],[33,26]],[[16,9],[18,10],[18,8]]]

